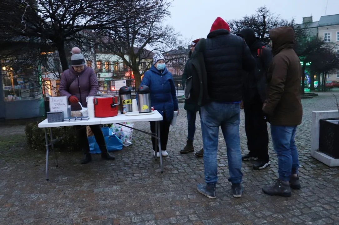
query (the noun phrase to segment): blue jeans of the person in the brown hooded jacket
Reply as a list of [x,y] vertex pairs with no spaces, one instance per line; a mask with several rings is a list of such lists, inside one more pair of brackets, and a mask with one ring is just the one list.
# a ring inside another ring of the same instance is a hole
[[298,150],[294,143],[297,127],[271,125],[274,151],[278,155],[279,179],[289,182],[299,168]]

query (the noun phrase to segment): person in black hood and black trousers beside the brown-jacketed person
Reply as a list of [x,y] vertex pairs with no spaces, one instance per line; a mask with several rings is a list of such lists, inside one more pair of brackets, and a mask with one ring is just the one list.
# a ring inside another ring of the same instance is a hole
[[270,165],[267,121],[262,106],[266,99],[266,72],[272,62],[272,53],[256,38],[254,29],[245,28],[238,36],[245,40],[257,62],[255,69],[244,79],[242,106],[245,112],[247,148],[250,152],[241,158],[245,161],[258,159],[253,168],[263,169]]

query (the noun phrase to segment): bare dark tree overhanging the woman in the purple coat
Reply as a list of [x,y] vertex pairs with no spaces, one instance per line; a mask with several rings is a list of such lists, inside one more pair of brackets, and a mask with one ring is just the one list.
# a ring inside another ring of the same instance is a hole
[[2,18],[0,41],[13,37],[27,37],[50,44],[58,50],[62,69],[65,70],[68,68],[69,54],[65,48],[66,43],[88,38],[90,34],[84,31],[103,33],[106,30],[121,29],[121,21],[137,17],[143,11],[135,2],[135,0],[4,0],[0,7]]

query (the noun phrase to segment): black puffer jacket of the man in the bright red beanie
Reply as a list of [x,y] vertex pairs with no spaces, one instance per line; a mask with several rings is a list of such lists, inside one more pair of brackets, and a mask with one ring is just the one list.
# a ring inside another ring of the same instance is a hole
[[245,41],[226,29],[214,30],[207,36],[204,57],[211,100],[240,102],[242,78],[256,63]]

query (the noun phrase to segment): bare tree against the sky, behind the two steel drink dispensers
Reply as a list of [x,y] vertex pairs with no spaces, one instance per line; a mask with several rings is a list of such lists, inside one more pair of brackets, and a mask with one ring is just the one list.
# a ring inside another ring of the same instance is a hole
[[[144,1],[135,0],[135,5],[145,9],[136,17],[125,17],[119,28],[105,36],[103,43],[107,43],[110,50],[118,55],[133,71],[136,86],[141,82],[141,75],[149,66],[140,67],[141,62],[150,63],[152,53],[164,53],[176,49],[180,45],[179,34],[169,25],[164,25],[170,16],[168,0]],[[148,49],[148,50],[147,50]],[[142,71],[140,71],[142,69]]]

